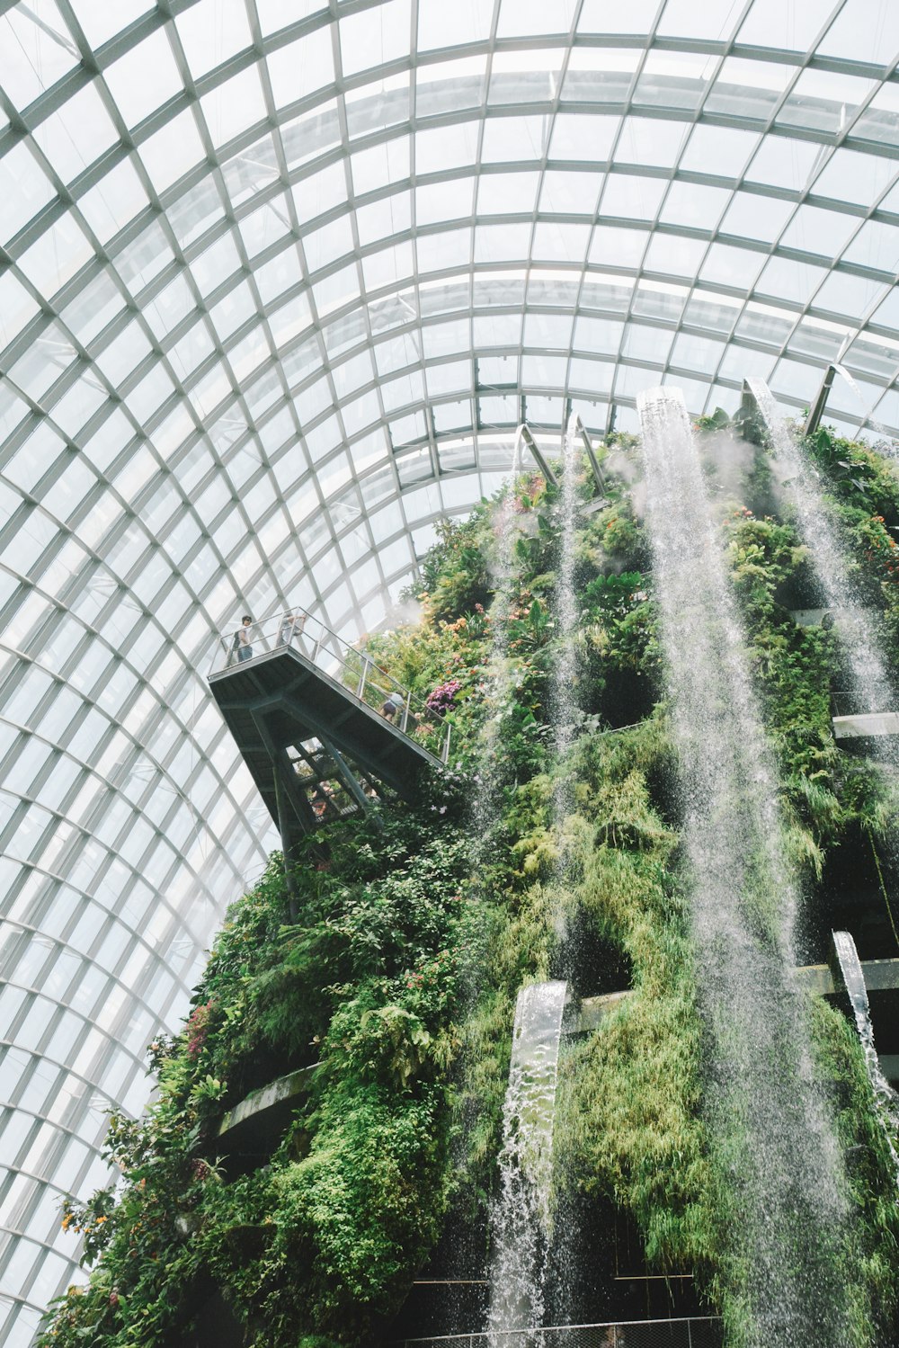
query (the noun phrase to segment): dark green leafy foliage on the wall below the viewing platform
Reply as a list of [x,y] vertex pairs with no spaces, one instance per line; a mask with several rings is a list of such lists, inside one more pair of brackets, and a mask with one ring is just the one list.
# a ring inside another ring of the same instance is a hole
[[[336,829],[332,869],[298,867],[295,923],[278,859],[230,911],[197,1008],[162,1051],[156,1103],[140,1123],[112,1119],[119,1201],[101,1190],[66,1211],[101,1262],[47,1343],[89,1329],[97,1344],[168,1348],[202,1273],[267,1345],[292,1345],[298,1326],[352,1339],[406,1290],[446,1206],[465,923],[458,802],[442,816],[427,802],[380,832]],[[260,1062],[271,1077],[314,1060],[313,1093],[272,1163],[222,1182],[209,1159],[222,1105],[261,1084]]]

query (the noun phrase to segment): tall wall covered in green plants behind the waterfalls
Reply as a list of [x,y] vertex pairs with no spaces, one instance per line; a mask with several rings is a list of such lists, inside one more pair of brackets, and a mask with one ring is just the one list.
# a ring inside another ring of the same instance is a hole
[[[731,431],[720,421],[706,430],[714,461],[716,435]],[[811,452],[895,648],[894,472],[829,431]],[[279,856],[230,910],[182,1033],[151,1045],[152,1107],[136,1123],[112,1119],[121,1182],[66,1204],[90,1275],[54,1308],[43,1348],[187,1345],[213,1293],[259,1348],[388,1336],[449,1215],[483,1223],[515,996],[546,977],[567,977],[576,998],[616,979],[632,988],[563,1057],[559,1212],[627,1213],[650,1267],[690,1270],[728,1343],[743,1341],[741,1273],[722,1231],[728,1181],[705,1135],[678,764],[648,550],[625,487],[639,472],[635,445],[607,446],[605,469],[607,503],[578,516],[576,537],[580,710],[567,762],[554,760],[551,727],[559,500],[522,477],[501,507],[514,520],[501,603],[493,501],[441,526],[421,623],[368,642],[446,710],[447,770],[422,780],[414,806],[384,797],[368,818],[329,825],[328,860],[309,840],[292,911]],[[798,627],[783,603],[809,559],[776,500],[752,512],[774,499],[766,472],[760,457],[722,508],[722,546],[814,902],[848,838],[877,852],[890,802],[865,760],[834,747],[840,652],[832,631]],[[586,473],[580,491],[589,497]],[[558,821],[561,775],[571,789]],[[855,1157],[840,1247],[853,1343],[875,1348],[895,1298],[895,1177],[853,1033],[822,1002],[810,1015],[822,1089]],[[274,1153],[235,1174],[214,1140],[222,1112],[306,1065],[307,1095]]]

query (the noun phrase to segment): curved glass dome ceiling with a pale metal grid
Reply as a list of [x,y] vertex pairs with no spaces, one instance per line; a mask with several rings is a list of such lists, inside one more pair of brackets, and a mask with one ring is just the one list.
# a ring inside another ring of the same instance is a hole
[[213,634],[375,627],[515,427],[899,429],[890,0],[0,3],[0,1345],[264,809]]

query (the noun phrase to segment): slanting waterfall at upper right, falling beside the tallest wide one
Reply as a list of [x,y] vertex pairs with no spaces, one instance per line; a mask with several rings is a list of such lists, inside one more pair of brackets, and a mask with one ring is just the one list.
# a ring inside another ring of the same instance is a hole
[[[846,572],[840,535],[821,495],[817,473],[797,445],[768,386],[760,379],[749,379],[747,383],[767,426],[771,448],[786,470],[784,485],[795,508],[797,526],[802,542],[814,559],[826,605],[833,611],[834,627],[852,671],[853,693],[864,704],[861,710],[894,710],[896,701],[887,662],[872,636],[876,615],[859,601]],[[895,745],[888,741],[877,745],[877,749],[888,759],[899,758]]]

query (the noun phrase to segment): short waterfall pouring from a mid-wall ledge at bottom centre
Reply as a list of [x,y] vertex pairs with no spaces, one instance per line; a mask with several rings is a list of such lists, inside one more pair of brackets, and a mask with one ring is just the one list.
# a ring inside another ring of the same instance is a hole
[[505,1330],[536,1329],[543,1322],[555,1073],[566,988],[562,981],[530,984],[515,1006],[500,1189],[491,1212],[491,1348],[501,1348]]

